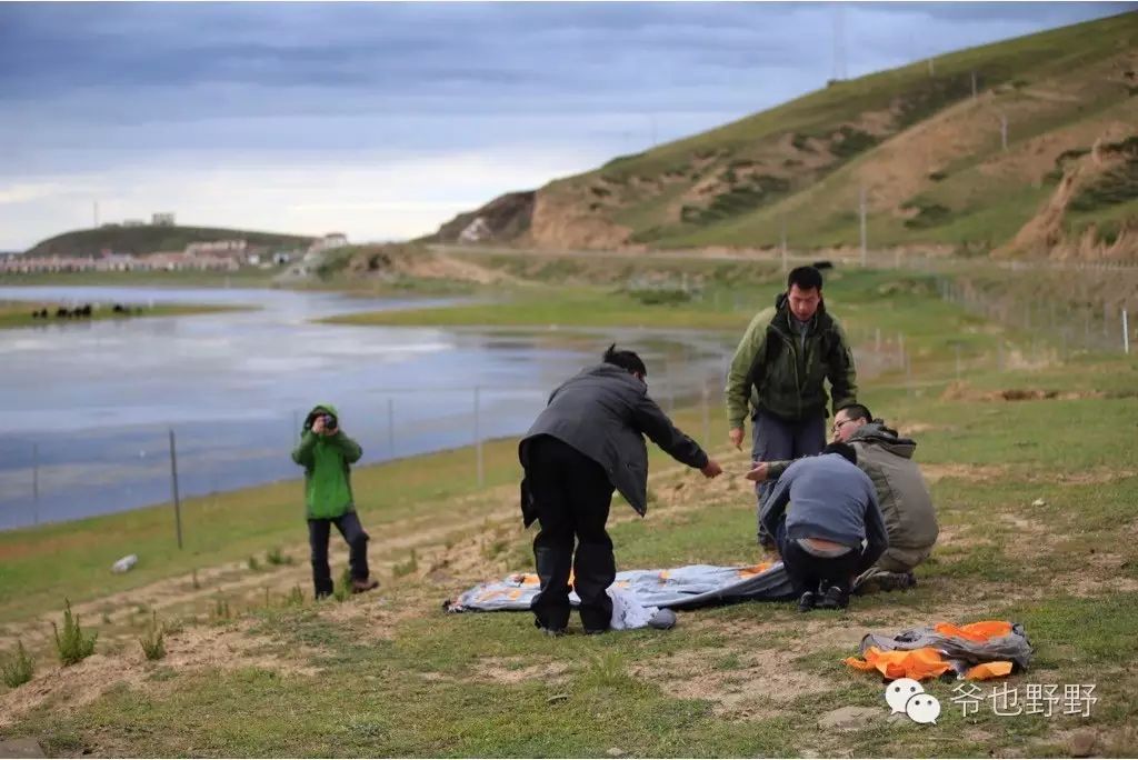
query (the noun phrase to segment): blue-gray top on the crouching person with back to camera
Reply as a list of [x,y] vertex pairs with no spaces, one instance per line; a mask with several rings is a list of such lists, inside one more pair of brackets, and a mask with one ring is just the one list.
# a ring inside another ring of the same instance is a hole
[[807,456],[786,468],[762,507],[772,536],[783,512],[787,538],[824,538],[858,551],[865,540],[858,572],[889,546],[873,481],[841,454]]

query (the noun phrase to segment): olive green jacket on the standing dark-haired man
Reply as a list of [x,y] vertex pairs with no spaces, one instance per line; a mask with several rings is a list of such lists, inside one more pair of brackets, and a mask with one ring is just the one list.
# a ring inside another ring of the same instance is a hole
[[780,294],[774,308],[756,314],[739,341],[725,389],[732,428],[742,428],[751,411],[791,422],[825,414],[825,380],[830,380],[834,410],[857,400],[853,353],[825,303],[807,325],[801,348],[793,319],[786,294]]

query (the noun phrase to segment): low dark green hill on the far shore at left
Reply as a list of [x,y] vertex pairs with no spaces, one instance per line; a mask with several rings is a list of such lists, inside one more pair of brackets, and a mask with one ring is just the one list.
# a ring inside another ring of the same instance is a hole
[[116,254],[152,254],[159,250],[182,250],[191,242],[211,240],[246,240],[250,246],[266,248],[306,247],[313,238],[275,232],[251,232],[207,226],[100,226],[57,234],[32,246],[28,256],[92,256],[104,248]]

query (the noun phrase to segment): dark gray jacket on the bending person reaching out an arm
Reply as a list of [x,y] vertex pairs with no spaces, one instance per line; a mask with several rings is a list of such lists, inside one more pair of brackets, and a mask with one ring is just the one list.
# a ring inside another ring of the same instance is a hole
[[[585,367],[550,396],[529,432],[518,445],[526,465],[527,443],[552,436],[593,460],[643,515],[648,512],[648,447],[643,436],[687,466],[703,469],[708,455],[671,423],[648,395],[648,387],[613,364]],[[535,519],[531,496],[521,484],[521,511],[528,526]]]

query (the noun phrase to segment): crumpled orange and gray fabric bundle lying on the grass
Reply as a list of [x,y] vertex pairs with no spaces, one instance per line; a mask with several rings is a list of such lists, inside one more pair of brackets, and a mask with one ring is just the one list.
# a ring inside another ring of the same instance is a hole
[[864,659],[848,658],[851,668],[877,670],[888,679],[935,678],[948,670],[971,680],[999,678],[1031,663],[1031,642],[1023,626],[983,620],[956,626],[938,622],[889,637],[869,634],[861,639]]

